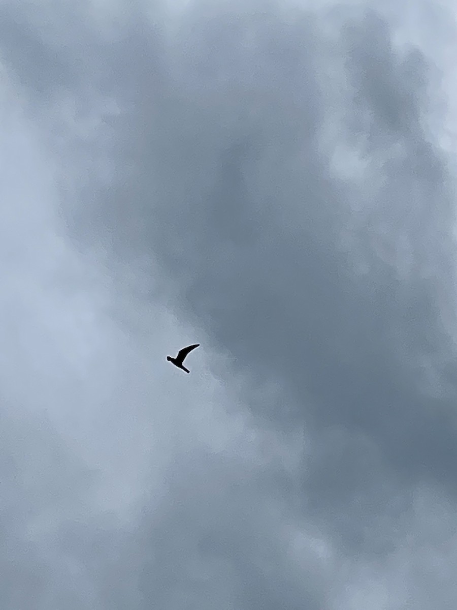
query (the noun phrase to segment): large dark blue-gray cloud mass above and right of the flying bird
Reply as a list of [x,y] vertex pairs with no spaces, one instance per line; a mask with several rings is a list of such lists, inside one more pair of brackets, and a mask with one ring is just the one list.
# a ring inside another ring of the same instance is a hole
[[376,179],[355,184],[321,150],[333,118],[319,51],[331,54],[335,35],[312,16],[286,24],[233,12],[225,27],[227,14],[196,14],[169,46],[160,102],[138,98],[125,117],[135,170],[114,196],[121,215],[103,217],[116,246],[161,257],[183,306],[253,382],[272,375],[295,397],[281,425],[364,432],[406,478],[453,487],[452,405],[431,409],[415,376],[423,357],[450,354],[440,310],[452,281],[452,180],[422,123],[427,61],[394,49],[373,12],[338,24],[345,145]]

